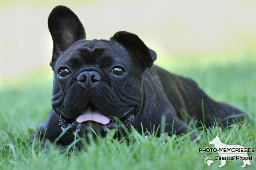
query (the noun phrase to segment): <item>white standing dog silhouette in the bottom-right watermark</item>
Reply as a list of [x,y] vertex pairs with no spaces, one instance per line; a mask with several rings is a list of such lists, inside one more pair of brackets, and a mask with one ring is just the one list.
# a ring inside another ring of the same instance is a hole
[[251,165],[251,162],[249,161],[250,158],[248,157],[245,147],[240,145],[226,145],[225,143],[221,142],[218,135],[214,139],[212,139],[209,144],[214,145],[214,147],[217,149],[218,154],[220,155],[220,157],[216,156],[217,159],[221,160],[221,165],[219,167],[225,166],[226,160],[234,160],[233,157],[236,157],[236,159],[240,159],[244,162],[244,165],[242,165],[242,167],[245,167],[246,165]]

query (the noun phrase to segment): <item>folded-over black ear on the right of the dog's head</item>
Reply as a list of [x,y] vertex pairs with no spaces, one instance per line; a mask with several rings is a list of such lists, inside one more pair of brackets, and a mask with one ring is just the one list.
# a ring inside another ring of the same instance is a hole
[[131,51],[139,60],[143,70],[147,67],[151,68],[154,61],[157,59],[157,53],[148,48],[138,35],[126,31],[119,31],[115,33],[110,40],[118,41],[118,43],[122,44],[127,50]]

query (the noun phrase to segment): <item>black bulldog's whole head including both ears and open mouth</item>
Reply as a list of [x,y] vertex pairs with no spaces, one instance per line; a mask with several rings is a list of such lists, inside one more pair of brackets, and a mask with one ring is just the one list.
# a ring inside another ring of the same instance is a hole
[[[63,129],[78,133],[130,126],[143,106],[143,72],[156,54],[138,36],[117,32],[110,40],[86,40],[83,25],[67,7],[48,19],[53,39],[52,106]],[[103,29],[103,28],[102,28]],[[91,125],[90,123],[90,125]]]

